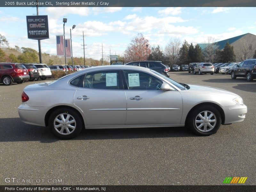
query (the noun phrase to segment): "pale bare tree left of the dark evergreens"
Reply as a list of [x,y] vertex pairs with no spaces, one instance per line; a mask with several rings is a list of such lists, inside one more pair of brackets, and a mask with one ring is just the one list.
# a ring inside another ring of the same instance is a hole
[[165,55],[170,58],[171,65],[176,64],[179,60],[181,41],[179,38],[170,39],[169,43],[165,47]]

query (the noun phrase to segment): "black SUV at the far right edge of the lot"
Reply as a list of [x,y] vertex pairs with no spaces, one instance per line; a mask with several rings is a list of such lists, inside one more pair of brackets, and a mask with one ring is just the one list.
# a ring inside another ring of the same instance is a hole
[[246,77],[247,81],[252,81],[256,78],[256,59],[244,60],[233,68],[231,71],[231,78]]

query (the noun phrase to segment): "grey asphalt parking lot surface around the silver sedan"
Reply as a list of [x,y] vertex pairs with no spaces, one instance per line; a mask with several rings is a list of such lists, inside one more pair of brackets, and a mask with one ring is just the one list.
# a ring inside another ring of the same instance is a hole
[[188,72],[170,77],[235,92],[248,107],[245,120],[221,125],[208,137],[175,127],[84,130],[59,140],[18,115],[23,88],[47,80],[0,84],[0,184],[32,184],[5,179],[17,178],[39,179],[40,185],[222,185],[226,177],[248,177],[245,185],[255,185],[256,79]]

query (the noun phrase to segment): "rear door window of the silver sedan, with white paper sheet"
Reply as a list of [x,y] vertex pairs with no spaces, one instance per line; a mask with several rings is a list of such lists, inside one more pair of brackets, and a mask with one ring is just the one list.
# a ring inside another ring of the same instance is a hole
[[119,90],[121,89],[119,71],[114,70],[114,71],[101,71],[101,72],[87,73],[84,76],[82,87],[89,88],[89,89]]

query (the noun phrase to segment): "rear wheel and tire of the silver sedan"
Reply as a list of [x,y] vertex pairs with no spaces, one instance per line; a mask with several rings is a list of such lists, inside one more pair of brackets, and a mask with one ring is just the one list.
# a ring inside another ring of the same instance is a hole
[[57,138],[72,139],[82,131],[83,121],[74,109],[60,108],[51,114],[48,125]]

